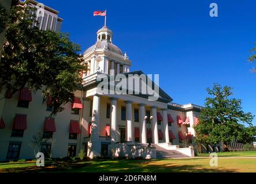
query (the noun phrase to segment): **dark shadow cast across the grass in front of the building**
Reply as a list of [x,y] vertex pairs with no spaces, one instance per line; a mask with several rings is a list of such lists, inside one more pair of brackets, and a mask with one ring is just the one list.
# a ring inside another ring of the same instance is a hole
[[[33,173],[33,172],[72,172],[72,173],[170,173],[170,172],[236,172],[225,168],[204,168],[200,164],[157,163],[159,160],[95,160],[80,163],[54,162],[46,163],[45,167],[18,167],[1,169],[0,172]],[[150,163],[150,164],[149,164]]]

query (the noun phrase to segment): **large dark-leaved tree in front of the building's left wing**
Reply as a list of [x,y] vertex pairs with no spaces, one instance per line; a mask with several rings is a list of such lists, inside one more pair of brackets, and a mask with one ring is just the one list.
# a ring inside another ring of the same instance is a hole
[[[6,21],[5,43],[0,62],[0,92],[6,97],[28,86],[51,97],[53,113],[73,100],[73,91],[81,89],[81,72],[86,70],[80,46],[69,34],[40,30],[35,21],[36,9],[13,1]],[[1,20],[1,19],[0,19]]]

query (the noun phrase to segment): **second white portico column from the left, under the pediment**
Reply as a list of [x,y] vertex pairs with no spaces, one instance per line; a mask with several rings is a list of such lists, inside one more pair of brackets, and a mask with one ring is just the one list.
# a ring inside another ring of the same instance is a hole
[[111,101],[111,140],[117,142],[117,98],[110,98]]

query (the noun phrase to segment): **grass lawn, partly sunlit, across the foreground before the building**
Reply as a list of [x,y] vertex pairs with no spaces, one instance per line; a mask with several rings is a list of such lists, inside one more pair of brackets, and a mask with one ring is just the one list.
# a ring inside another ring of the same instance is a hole
[[221,158],[211,167],[209,158],[155,160],[93,160],[55,162],[37,167],[35,162],[0,163],[1,172],[256,172],[256,159]]

